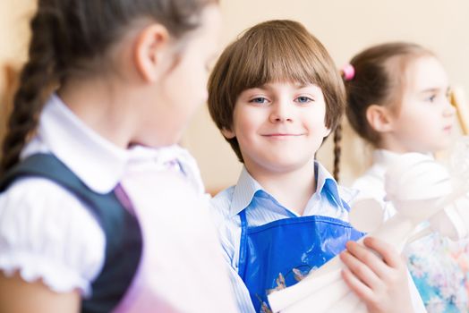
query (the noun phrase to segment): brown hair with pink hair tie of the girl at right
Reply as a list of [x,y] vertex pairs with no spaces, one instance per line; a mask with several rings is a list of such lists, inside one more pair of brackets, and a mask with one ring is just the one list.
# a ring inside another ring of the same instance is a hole
[[[391,42],[369,47],[355,55],[344,68],[347,105],[345,114],[354,131],[376,146],[379,133],[366,118],[371,105],[398,109],[405,84],[405,67],[415,59],[433,54],[430,50],[407,42]],[[394,107],[396,106],[396,107]],[[334,135],[334,176],[338,178],[341,131]]]

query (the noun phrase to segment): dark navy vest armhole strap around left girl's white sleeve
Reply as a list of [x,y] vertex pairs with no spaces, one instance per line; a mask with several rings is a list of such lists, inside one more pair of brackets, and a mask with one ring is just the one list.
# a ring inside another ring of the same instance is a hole
[[[92,296],[82,301],[81,312],[110,312],[124,297],[141,259],[141,228],[135,216],[119,202],[115,192],[98,194],[88,188],[58,158],[37,154],[13,167],[0,181],[0,192],[22,177],[42,177],[63,186],[81,199],[96,216],[106,235],[105,265],[92,283]],[[64,209],[66,209],[64,207]]]

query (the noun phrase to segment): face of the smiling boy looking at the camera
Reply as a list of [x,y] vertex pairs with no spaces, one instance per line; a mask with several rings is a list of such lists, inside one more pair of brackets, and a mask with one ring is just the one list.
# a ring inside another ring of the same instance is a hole
[[330,132],[326,103],[315,85],[272,82],[246,89],[236,100],[233,127],[244,165],[257,173],[286,173],[312,166],[314,154]]

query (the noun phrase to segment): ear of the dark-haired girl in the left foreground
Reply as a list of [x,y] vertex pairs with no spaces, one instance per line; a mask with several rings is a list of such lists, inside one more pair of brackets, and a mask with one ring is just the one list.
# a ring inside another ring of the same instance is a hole
[[154,23],[140,31],[135,41],[133,57],[137,72],[143,80],[157,80],[168,42],[169,33],[161,24]]

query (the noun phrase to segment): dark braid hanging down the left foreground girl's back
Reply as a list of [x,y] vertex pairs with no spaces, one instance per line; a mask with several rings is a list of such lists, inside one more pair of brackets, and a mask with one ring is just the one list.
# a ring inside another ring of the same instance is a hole
[[13,99],[7,132],[4,137],[0,174],[18,163],[21,149],[38,125],[38,116],[59,73],[55,63],[54,31],[47,14],[37,14],[31,21],[32,38],[29,61],[21,71],[20,86]]

